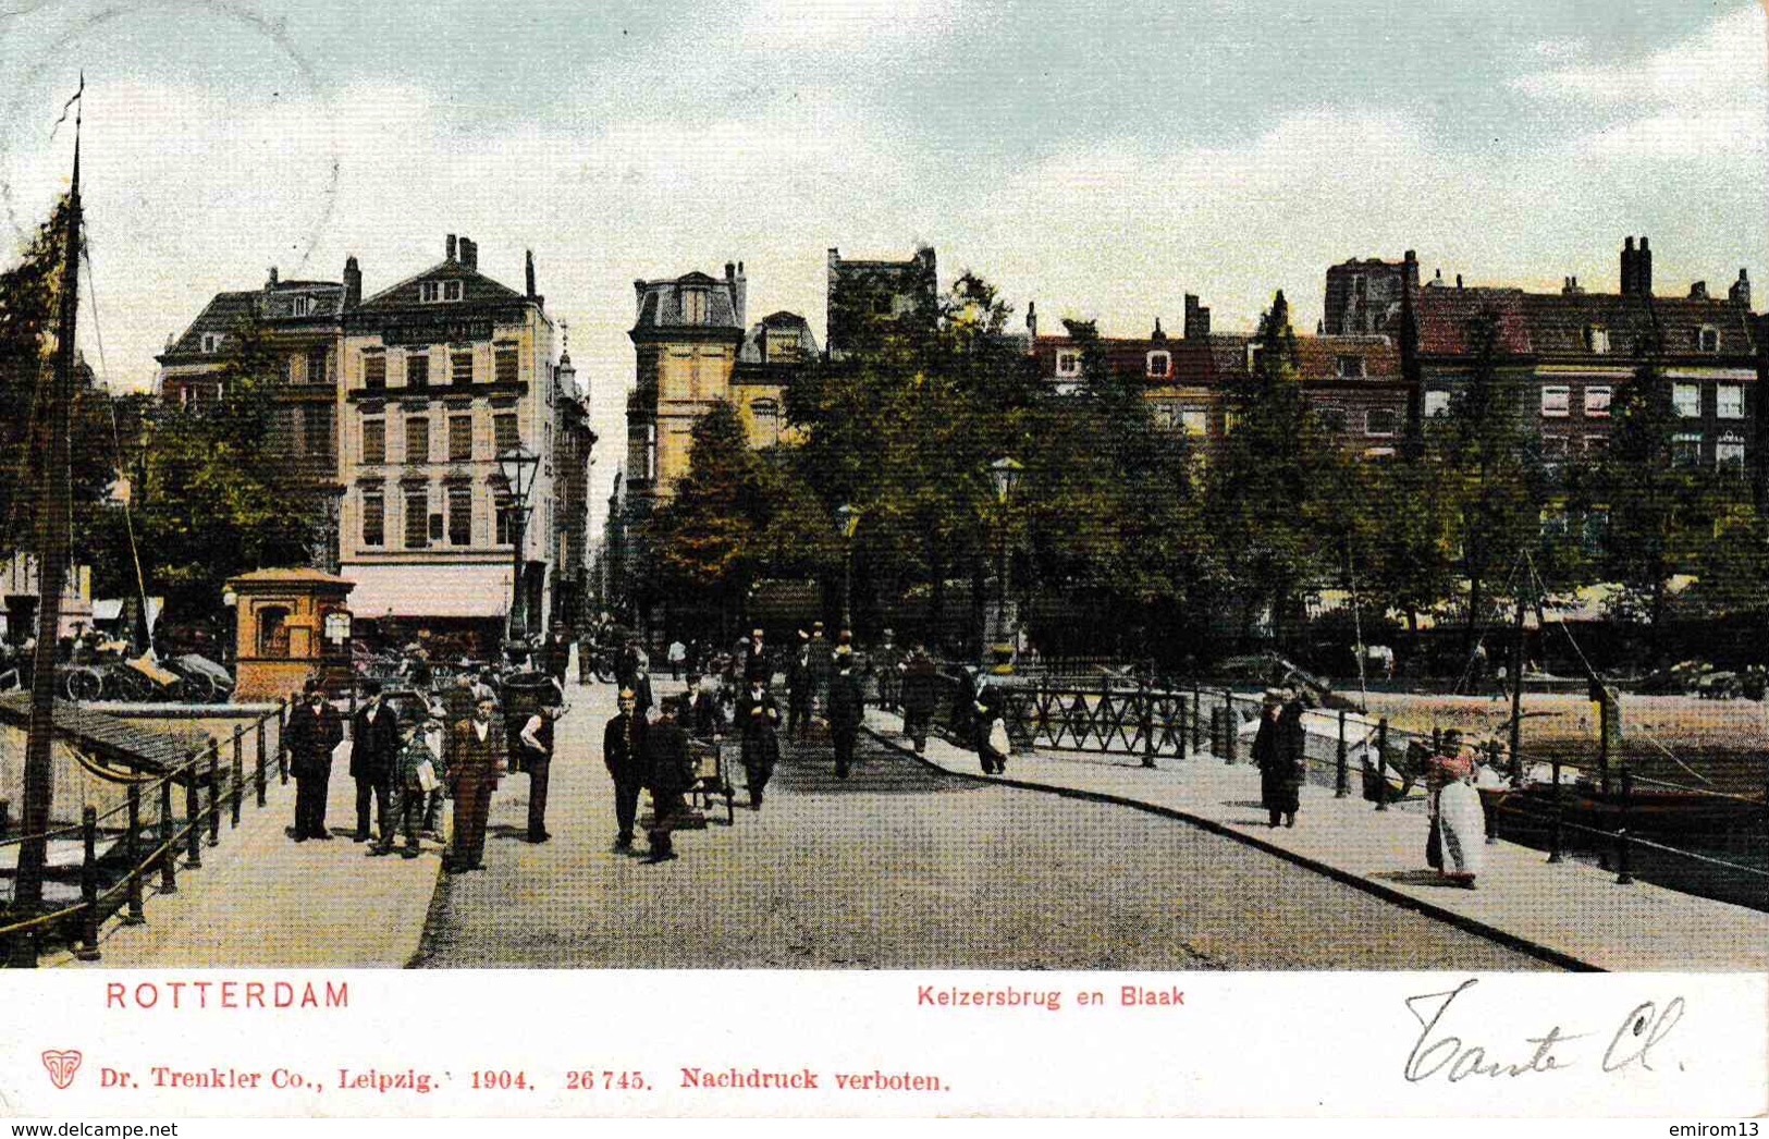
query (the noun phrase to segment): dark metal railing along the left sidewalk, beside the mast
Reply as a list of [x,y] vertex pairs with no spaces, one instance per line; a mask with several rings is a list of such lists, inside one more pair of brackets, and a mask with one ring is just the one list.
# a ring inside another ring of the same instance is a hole
[[[264,806],[274,778],[288,782],[288,752],[283,725],[288,700],[234,727],[232,736],[211,738],[203,748],[156,778],[127,782],[122,803],[99,814],[90,803],[78,824],[58,826],[39,835],[80,842],[78,902],[44,904],[37,913],[19,913],[16,904],[0,909],[0,955],[12,967],[35,967],[53,937],[74,943],[74,957],[99,960],[99,936],[104,921],[122,914],[124,925],[147,921],[147,883],[157,879],[157,893],[177,893],[179,863],[202,868],[203,847],[221,842],[221,817],[228,829],[239,826],[248,796]],[[276,745],[267,729],[276,723]],[[248,752],[251,755],[248,762]],[[182,799],[182,803],[180,803]],[[152,819],[143,817],[154,812]],[[11,833],[11,806],[0,801],[0,851],[19,847],[28,837]],[[12,865],[18,865],[12,854]],[[65,881],[65,872],[46,868],[44,881]],[[16,886],[16,875],[14,875]]]

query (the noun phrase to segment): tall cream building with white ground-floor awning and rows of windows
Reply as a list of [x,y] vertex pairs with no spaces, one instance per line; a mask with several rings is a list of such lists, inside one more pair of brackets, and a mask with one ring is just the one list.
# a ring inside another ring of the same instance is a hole
[[[559,566],[554,324],[534,290],[479,272],[478,246],[448,237],[440,262],[343,313],[338,470],[340,573],[357,617],[495,644],[520,566],[522,630],[552,612]],[[497,456],[540,456],[527,520]],[[517,543],[520,539],[520,552]]]

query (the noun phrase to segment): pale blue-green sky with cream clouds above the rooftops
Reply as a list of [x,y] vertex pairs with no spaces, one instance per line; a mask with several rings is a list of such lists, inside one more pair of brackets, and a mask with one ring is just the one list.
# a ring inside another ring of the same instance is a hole
[[[1769,0],[1764,0],[1769,4]],[[938,249],[1040,324],[1320,317],[1325,267],[1769,299],[1769,81],[1750,0],[0,0],[0,258],[83,179],[103,364],[219,290],[377,292],[479,242],[548,313],[621,460],[635,278],[745,262],[823,338],[824,256]],[[1762,304],[1762,301],[1760,301]]]

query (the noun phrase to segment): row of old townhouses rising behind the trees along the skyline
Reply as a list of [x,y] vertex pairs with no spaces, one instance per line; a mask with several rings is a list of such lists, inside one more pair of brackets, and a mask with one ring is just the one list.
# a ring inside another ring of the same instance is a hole
[[[357,617],[453,623],[490,637],[520,562],[532,626],[571,624],[619,577],[623,524],[686,474],[699,416],[727,401],[752,446],[791,444],[785,394],[803,368],[930,333],[939,315],[930,248],[906,260],[830,249],[823,345],[798,313],[750,322],[741,262],[718,276],[640,279],[633,292],[624,462],[596,488],[589,384],[568,352],[554,355],[563,334],[536,292],[532,255],[518,292],[479,272],[465,237],[448,237],[440,262],[366,297],[356,258],[336,283],[280,281],[272,271],[260,290],[218,294],[159,357],[159,393],[200,407],[219,396],[239,338],[269,347],[287,378],[278,421],[302,460],[299,490],[320,495],[333,518],[315,559],[356,584]],[[1629,237],[1619,292],[1567,278],[1560,292],[1541,294],[1465,287],[1442,272],[1422,281],[1406,251],[1327,269],[1323,313],[1314,334],[1297,338],[1297,377],[1323,432],[1360,456],[1394,455],[1447,410],[1489,322],[1491,363],[1523,393],[1550,463],[1603,451],[1612,401],[1650,354],[1673,384],[1679,462],[1741,478],[1760,467],[1755,393],[1769,371],[1769,338],[1742,269],[1725,297],[1702,281],[1659,297],[1650,244]],[[1040,333],[1033,304],[1024,331],[1007,340],[1054,393],[1081,387],[1081,345]],[[1265,345],[1212,329],[1210,310],[1187,295],[1178,334],[1155,318],[1146,336],[1106,336],[1102,348],[1120,377],[1143,384],[1159,423],[1208,453],[1228,428],[1228,391]],[[517,446],[540,456],[520,557],[497,463]],[[616,564],[593,577],[603,543],[591,504],[609,492],[605,554]]]

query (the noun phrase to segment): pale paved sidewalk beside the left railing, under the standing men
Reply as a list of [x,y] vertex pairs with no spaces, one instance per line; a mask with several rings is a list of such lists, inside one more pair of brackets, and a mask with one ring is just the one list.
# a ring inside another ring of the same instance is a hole
[[[433,842],[419,858],[368,858],[356,831],[356,780],[334,766],[325,824],[333,842],[294,842],[295,784],[272,775],[264,808],[248,794],[239,829],[221,819],[221,845],[203,865],[179,861],[179,891],[147,883],[147,923],[106,923],[96,962],[71,953],[46,967],[80,969],[400,969],[416,955],[442,861]],[[403,844],[403,838],[400,840]]]

